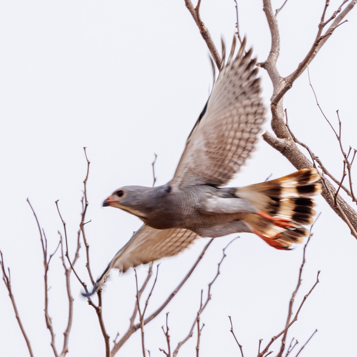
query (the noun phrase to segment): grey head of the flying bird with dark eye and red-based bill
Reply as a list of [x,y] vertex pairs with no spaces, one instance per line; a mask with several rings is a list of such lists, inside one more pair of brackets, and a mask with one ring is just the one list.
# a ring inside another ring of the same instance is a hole
[[103,207],[120,208],[141,219],[146,218],[147,205],[150,202],[151,187],[124,186],[114,191],[103,202]]

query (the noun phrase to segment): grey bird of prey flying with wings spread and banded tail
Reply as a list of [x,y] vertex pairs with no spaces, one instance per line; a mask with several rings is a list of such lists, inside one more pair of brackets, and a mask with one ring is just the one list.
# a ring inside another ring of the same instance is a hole
[[266,110],[261,79],[246,38],[235,55],[236,37],[206,105],[186,141],[174,177],[157,187],[125,186],[103,206],[120,208],[144,223],[115,254],[94,283],[91,296],[112,268],[130,267],[173,256],[199,237],[249,232],[278,250],[290,250],[309,235],[304,225],[315,215],[312,196],[321,192],[315,168],[245,187],[223,187],[236,177],[257,147]]

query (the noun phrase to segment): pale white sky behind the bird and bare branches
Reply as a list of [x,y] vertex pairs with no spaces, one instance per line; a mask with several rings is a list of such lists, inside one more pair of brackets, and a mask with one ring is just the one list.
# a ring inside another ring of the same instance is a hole
[[[273,9],[283,1],[273,1]],[[278,15],[281,55],[278,69],[290,74],[315,39],[325,1],[288,1]],[[330,1],[328,16],[340,4]],[[270,34],[261,1],[239,1],[240,30],[259,61],[270,48]],[[201,17],[219,44],[235,31],[234,1],[202,1]],[[325,114],[337,127],[342,120],[343,145],[356,143],[357,13],[338,27],[310,65],[312,84]],[[220,46],[218,46],[220,48]],[[114,253],[140,225],[138,218],[102,201],[124,185],[152,184],[154,152],[157,184],[169,181],[186,137],[206,102],[212,85],[208,50],[184,1],[2,1],[0,5],[0,248],[11,268],[12,289],[36,356],[50,356],[50,335],[44,319],[42,252],[29,197],[49,241],[57,246],[63,232],[55,200],[59,199],[72,252],[80,222],[82,181],[86,172],[83,146],[91,161],[88,180],[87,239],[92,272],[100,275]],[[266,103],[271,83],[263,77]],[[337,177],[342,155],[336,138],[316,106],[307,72],[284,99],[291,129],[310,145]],[[270,129],[270,128],[269,128]],[[295,171],[277,151],[261,142],[254,160],[232,185],[242,186]],[[354,171],[356,177],[356,170]],[[350,201],[348,201],[350,202]],[[321,270],[320,283],[291,328],[302,345],[318,332],[303,356],[343,356],[355,350],[356,239],[320,197],[322,215],[307,250],[300,302]],[[227,249],[212,300],[201,316],[202,356],[238,355],[227,315],[232,316],[245,356],[257,353],[285,324],[288,301],[297,282],[302,246],[276,251],[258,237],[241,234]],[[162,314],[146,326],[146,348],[162,356],[166,348],[161,326],[170,311],[172,346],[189,331],[201,288],[216,272],[222,247],[232,237],[217,238],[193,276]],[[148,311],[154,311],[195,261],[207,240],[175,258],[162,260]],[[89,282],[84,250],[77,271]],[[147,267],[139,268],[141,279]],[[62,345],[67,318],[64,274],[59,254],[49,271],[49,312]],[[73,277],[74,321],[69,356],[103,356],[104,342],[94,310],[80,297]],[[28,355],[7,291],[0,284],[0,346],[4,356]],[[104,320],[112,338],[128,326],[135,302],[134,272],[116,271],[103,294]],[[295,311],[295,310],[294,310]],[[196,335],[181,349],[195,356]],[[272,349],[278,351],[279,344]],[[118,355],[141,354],[140,333]],[[302,354],[301,354],[302,355]]]

